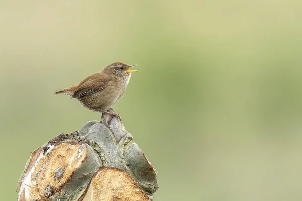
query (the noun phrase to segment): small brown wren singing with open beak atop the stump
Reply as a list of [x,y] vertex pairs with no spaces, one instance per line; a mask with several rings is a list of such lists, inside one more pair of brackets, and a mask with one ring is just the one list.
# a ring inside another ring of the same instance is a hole
[[124,95],[130,81],[130,70],[133,66],[122,62],[115,62],[105,67],[101,72],[94,73],[76,86],[56,90],[54,94],[65,94],[77,98],[86,108],[116,116],[118,113],[108,112],[114,104]]

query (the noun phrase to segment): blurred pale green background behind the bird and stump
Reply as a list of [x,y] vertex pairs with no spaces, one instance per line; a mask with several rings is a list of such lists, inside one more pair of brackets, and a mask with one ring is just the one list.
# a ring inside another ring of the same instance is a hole
[[300,1],[1,1],[1,200],[31,152],[101,115],[52,95],[139,64],[114,106],[155,201],[302,199]]

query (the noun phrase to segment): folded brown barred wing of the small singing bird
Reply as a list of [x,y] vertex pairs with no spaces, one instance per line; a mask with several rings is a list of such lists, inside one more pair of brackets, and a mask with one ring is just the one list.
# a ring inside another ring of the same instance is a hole
[[81,81],[72,98],[83,97],[104,90],[109,85],[109,79],[107,76],[100,76],[100,73],[90,75]]

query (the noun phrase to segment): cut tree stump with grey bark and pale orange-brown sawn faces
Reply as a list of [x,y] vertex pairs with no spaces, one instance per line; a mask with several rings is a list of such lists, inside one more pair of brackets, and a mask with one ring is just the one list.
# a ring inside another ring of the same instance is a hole
[[104,118],[106,124],[87,122],[36,149],[17,200],[152,200],[158,189],[153,166],[116,117]]

